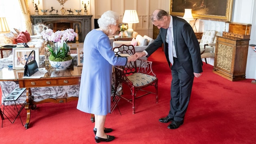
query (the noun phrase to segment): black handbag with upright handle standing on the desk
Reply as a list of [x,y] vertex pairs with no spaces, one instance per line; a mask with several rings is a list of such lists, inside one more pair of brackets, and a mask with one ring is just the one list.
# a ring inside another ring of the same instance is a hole
[[[30,55],[34,53],[34,59],[28,63],[28,60],[30,59]],[[37,61],[35,61],[35,51],[31,51],[28,55],[28,59],[26,61],[26,65],[24,66],[24,76],[32,76],[32,74],[35,74],[35,72],[38,71]]]

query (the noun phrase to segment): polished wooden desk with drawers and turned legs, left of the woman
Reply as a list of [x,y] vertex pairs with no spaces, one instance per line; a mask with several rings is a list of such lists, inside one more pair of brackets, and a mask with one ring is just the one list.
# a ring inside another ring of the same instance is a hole
[[[30,110],[34,109],[36,104],[42,104],[46,102],[54,102],[54,103],[61,103],[61,102],[69,102],[71,100],[78,100],[78,97],[67,97],[67,98],[61,98],[61,99],[45,99],[40,102],[34,102],[34,96],[31,94],[30,88],[32,87],[51,87],[51,86],[64,86],[64,85],[80,85],[80,78],[81,73],[80,70],[81,67],[77,67],[74,65],[71,65],[70,68],[68,68],[65,71],[66,76],[52,76],[52,72],[55,71],[55,68],[48,67],[46,70],[48,72],[44,75],[42,78],[16,78],[15,72],[13,70],[9,70],[8,68],[2,69],[2,74],[0,75],[1,81],[16,81],[19,83],[20,87],[26,87],[26,102],[25,110],[27,111],[27,119],[25,128],[28,129],[29,122],[30,122]],[[91,121],[94,122],[94,115],[91,114]]]

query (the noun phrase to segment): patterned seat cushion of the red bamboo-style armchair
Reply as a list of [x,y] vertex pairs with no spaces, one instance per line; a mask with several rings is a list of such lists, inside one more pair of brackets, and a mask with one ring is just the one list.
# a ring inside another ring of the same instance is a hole
[[152,81],[156,80],[156,77],[150,76],[148,74],[143,74],[143,73],[134,73],[130,76],[127,76],[127,78],[132,82],[132,84],[135,87],[140,87],[143,85],[148,85]]

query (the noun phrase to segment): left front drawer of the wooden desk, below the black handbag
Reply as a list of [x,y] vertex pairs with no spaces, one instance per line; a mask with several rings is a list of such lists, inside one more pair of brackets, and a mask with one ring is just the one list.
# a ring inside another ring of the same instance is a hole
[[57,85],[57,80],[26,80],[24,87],[47,87]]

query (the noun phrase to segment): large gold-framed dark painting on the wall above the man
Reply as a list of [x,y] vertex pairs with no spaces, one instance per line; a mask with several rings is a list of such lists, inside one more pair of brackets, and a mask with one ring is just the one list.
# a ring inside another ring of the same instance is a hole
[[170,15],[183,17],[191,8],[194,18],[231,21],[233,0],[170,0]]

